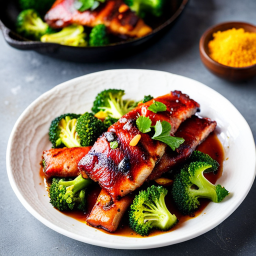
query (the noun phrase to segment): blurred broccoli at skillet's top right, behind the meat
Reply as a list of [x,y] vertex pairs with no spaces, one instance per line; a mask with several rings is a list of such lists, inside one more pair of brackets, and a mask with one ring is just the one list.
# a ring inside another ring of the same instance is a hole
[[164,1],[165,0],[129,0],[128,4],[130,9],[135,11],[140,17],[145,17],[147,14],[159,17],[163,12]]

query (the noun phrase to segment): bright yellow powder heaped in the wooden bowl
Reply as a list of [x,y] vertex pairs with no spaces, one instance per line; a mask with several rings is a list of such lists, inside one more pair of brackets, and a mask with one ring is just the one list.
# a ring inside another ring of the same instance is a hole
[[227,66],[243,67],[256,64],[256,33],[243,28],[213,33],[209,41],[209,56]]

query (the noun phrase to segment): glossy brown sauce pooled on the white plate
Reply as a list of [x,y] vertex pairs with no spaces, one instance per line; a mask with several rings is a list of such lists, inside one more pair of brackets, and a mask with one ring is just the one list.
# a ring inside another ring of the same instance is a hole
[[[213,174],[212,172],[209,173],[205,173],[205,177],[211,182],[211,183],[215,183],[216,180],[221,176],[222,174],[222,166],[223,166],[223,160],[224,160],[224,151],[223,151],[223,147],[222,144],[220,143],[220,141],[217,138],[217,135],[212,132],[199,146],[197,146],[196,148],[199,151],[202,151],[204,153],[209,154],[213,159],[215,159],[218,163],[219,163],[219,169],[217,174]],[[45,182],[45,176],[44,173],[42,171],[42,169],[40,170],[40,176],[44,178],[44,183]],[[88,196],[87,196],[87,211],[86,213],[83,212],[79,212],[79,211],[74,211],[74,212],[63,212],[64,214],[75,218],[78,221],[81,221],[85,224],[86,223],[86,217],[88,216],[88,213],[91,211],[92,207],[94,206],[97,196],[100,192],[100,187],[98,185],[95,185],[93,187],[93,189],[89,192]],[[165,197],[165,202],[166,202],[166,206],[169,209],[169,211],[172,214],[175,214],[176,217],[178,218],[178,223],[171,228],[169,231],[175,230],[176,228],[179,228],[182,223],[184,223],[186,220],[189,220],[190,218],[196,217],[200,214],[203,214],[203,210],[204,208],[207,206],[207,204],[209,203],[209,200],[204,199],[204,198],[200,198],[200,206],[198,208],[198,210],[194,213],[193,216],[184,216],[182,215],[174,206],[174,203],[172,201],[172,198],[170,196],[170,193],[168,193]],[[105,233],[109,233],[103,229],[99,229]],[[149,236],[153,236],[153,235],[157,235],[162,233],[162,231],[159,230],[154,230],[152,231]],[[123,221],[122,223],[120,223],[120,227],[117,228],[117,230],[114,233],[111,233],[113,235],[121,235],[121,236],[129,236],[129,237],[141,237],[139,234],[136,234],[132,229],[130,229],[128,227],[127,224],[127,217],[125,218],[125,216],[123,217]]]

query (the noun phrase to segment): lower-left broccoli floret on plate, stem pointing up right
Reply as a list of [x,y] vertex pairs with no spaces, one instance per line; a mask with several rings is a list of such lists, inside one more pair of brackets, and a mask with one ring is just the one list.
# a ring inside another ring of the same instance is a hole
[[78,209],[85,211],[86,187],[92,183],[81,174],[73,180],[53,178],[49,187],[50,203],[60,211]]

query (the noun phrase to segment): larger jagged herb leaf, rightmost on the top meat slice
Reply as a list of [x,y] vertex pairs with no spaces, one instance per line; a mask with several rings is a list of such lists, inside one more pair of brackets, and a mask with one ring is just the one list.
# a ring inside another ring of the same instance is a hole
[[179,145],[185,141],[183,138],[170,136],[171,125],[166,121],[157,121],[154,129],[155,133],[152,136],[152,139],[162,141],[170,146],[172,150],[178,148]]

